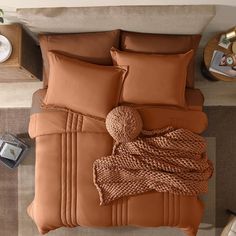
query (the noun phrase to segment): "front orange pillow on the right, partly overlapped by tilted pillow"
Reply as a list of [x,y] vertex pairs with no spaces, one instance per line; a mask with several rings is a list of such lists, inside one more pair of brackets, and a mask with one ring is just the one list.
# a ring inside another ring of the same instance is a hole
[[193,51],[184,54],[146,54],[111,49],[114,65],[127,65],[121,101],[133,104],[185,105],[185,85]]

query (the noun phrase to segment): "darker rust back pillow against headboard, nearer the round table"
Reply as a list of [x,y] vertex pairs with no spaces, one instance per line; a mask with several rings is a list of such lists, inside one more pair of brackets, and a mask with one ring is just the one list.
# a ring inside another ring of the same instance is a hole
[[186,86],[194,87],[195,55],[201,35],[167,35],[121,32],[120,48],[122,51],[177,54],[193,50],[189,63]]

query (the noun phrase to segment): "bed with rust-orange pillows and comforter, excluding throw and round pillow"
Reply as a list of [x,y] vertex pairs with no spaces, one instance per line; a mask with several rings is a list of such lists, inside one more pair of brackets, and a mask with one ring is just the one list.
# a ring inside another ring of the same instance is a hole
[[33,96],[29,124],[36,176],[28,208],[40,233],[129,225],[178,227],[196,235],[204,210],[198,195],[148,191],[103,205],[93,171],[96,160],[112,153],[106,117],[117,106],[138,111],[143,130],[206,130],[204,98],[194,88],[197,33],[40,35],[44,88]]

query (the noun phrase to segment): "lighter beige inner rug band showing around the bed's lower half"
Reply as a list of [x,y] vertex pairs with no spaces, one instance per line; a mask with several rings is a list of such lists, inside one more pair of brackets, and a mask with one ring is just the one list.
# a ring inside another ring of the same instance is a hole
[[[209,158],[215,162],[215,138],[207,138]],[[33,153],[25,159],[24,163],[18,168],[18,236],[39,235],[33,221],[26,213],[27,206],[34,197],[34,157]],[[206,210],[203,218],[204,223],[215,223],[215,176],[209,184],[209,194],[203,197]],[[200,233],[200,232],[199,232]],[[181,236],[184,235],[179,229],[163,228],[109,228],[109,229],[92,229],[92,228],[61,228],[50,232],[52,236]]]

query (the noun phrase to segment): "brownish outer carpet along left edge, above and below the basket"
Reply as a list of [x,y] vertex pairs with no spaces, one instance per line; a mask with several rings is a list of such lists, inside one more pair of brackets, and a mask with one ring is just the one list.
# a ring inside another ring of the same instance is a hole
[[[27,133],[30,109],[0,109],[0,133]],[[0,235],[18,235],[18,169],[0,164]]]

